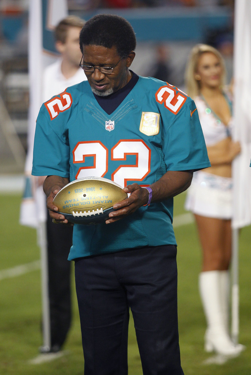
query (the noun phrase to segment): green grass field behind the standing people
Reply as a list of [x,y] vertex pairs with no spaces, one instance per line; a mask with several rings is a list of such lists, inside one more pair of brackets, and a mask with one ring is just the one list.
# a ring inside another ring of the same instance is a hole
[[[174,215],[184,213],[185,194],[175,198]],[[40,257],[34,229],[19,225],[21,196],[0,195],[0,270],[30,263]],[[16,212],[16,214],[14,214]],[[3,214],[4,213],[4,214]],[[240,338],[247,349],[223,365],[204,365],[212,355],[203,350],[205,318],[198,294],[200,249],[193,223],[175,229],[178,242],[179,332],[182,367],[185,375],[251,374],[251,228],[242,229],[240,237]],[[73,281],[73,273],[72,273]],[[40,271],[0,278],[0,374],[4,375],[83,375],[83,352],[74,282],[72,328],[65,345],[68,354],[53,362],[31,365],[38,355],[41,338]],[[128,341],[130,375],[142,374],[133,320]],[[168,374],[167,374],[168,375]]]

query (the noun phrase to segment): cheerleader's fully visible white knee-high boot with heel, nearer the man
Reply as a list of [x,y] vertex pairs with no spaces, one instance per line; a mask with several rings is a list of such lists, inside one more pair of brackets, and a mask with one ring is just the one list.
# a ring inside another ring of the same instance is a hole
[[227,333],[221,305],[220,272],[207,271],[199,275],[199,291],[207,320],[205,350],[235,356],[244,347],[241,344],[235,346]]

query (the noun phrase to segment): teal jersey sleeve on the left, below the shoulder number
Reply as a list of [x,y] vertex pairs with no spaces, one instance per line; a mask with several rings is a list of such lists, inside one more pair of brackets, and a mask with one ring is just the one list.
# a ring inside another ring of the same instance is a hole
[[40,110],[35,130],[31,174],[69,178],[69,144],[63,136],[56,133],[49,121]]

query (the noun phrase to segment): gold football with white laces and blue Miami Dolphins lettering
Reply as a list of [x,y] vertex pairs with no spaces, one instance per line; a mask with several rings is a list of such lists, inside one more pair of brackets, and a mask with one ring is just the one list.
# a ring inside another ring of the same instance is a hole
[[53,199],[58,213],[76,224],[97,224],[115,211],[113,205],[127,198],[114,181],[103,177],[84,177],[65,185]]

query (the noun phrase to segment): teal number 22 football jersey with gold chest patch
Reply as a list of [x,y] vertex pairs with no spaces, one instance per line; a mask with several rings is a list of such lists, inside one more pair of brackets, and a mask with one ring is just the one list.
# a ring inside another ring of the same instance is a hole
[[[108,115],[87,81],[44,103],[35,131],[33,175],[98,176],[148,186],[166,171],[210,166],[194,102],[154,78],[139,77]],[[90,198],[91,199],[91,198]],[[69,260],[143,246],[176,245],[173,198],[118,222],[74,225]]]

